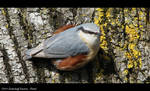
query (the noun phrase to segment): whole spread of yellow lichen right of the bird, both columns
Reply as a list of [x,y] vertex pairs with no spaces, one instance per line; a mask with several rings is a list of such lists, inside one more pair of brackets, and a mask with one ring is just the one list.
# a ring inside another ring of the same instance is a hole
[[[141,10],[142,9],[142,10]],[[94,23],[97,24],[100,27],[102,36],[100,37],[100,47],[107,53],[108,50],[108,43],[106,41],[106,34],[107,32],[105,29],[108,29],[109,31],[114,31],[112,29],[112,26],[119,26],[117,27],[118,30],[124,30],[125,36],[125,42],[122,43],[122,41],[118,42],[118,44],[121,46],[119,47],[120,51],[126,51],[125,56],[127,58],[127,69],[123,71],[125,75],[128,74],[128,69],[134,68],[141,68],[142,67],[142,59],[141,59],[141,52],[137,47],[138,40],[140,39],[140,36],[142,36],[142,31],[144,29],[144,26],[141,22],[146,20],[146,14],[143,12],[144,8],[124,8],[119,14],[116,14],[116,16],[112,16],[113,14],[113,8],[97,8],[96,14],[94,18]],[[104,11],[105,10],[105,14]],[[119,10],[119,9],[118,9]],[[120,21],[120,17],[122,17],[122,14],[124,14],[124,22],[122,23]],[[108,23],[110,22],[110,23]],[[112,26],[110,26],[110,24]],[[119,29],[120,28],[120,29]],[[110,38],[112,38],[113,35],[110,35]],[[110,40],[111,41],[111,40]]]

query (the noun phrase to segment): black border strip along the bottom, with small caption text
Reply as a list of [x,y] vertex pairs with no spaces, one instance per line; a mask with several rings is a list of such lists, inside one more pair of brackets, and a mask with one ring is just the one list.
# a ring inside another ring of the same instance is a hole
[[[54,91],[53,89],[60,89],[60,90],[134,90],[144,88],[150,89],[149,84],[48,84],[48,83],[30,83],[30,84],[0,84],[0,91]],[[13,89],[13,90],[12,90]],[[25,89],[25,90],[22,90]]]

